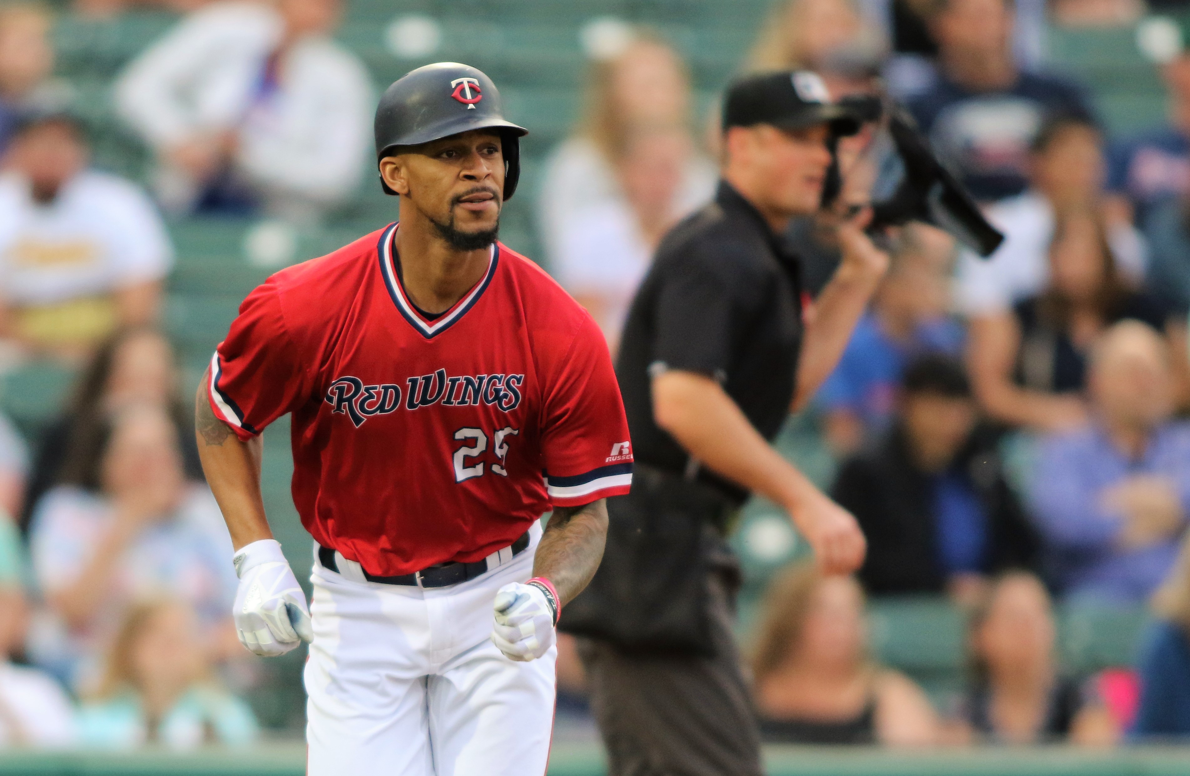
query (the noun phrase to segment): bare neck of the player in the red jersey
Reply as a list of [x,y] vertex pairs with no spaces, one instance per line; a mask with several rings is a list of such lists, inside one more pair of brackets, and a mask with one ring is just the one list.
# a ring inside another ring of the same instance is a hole
[[[428,228],[418,228],[428,227]],[[488,271],[491,246],[459,251],[438,235],[430,223],[401,221],[394,238],[401,259],[401,286],[420,310],[449,310]]]

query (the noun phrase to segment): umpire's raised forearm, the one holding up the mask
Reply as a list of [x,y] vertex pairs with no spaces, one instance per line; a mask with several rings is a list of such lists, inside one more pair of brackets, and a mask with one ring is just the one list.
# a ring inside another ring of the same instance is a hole
[[878,283],[878,275],[843,265],[823,289],[806,326],[790,411],[801,411],[834,371]]

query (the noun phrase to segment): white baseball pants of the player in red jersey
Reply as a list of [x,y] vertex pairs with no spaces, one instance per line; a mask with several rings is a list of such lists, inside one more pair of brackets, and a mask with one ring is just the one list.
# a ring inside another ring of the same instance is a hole
[[532,576],[532,531],[524,553],[450,587],[352,581],[315,563],[308,776],[545,774],[557,650],[518,663],[489,639],[496,591]]

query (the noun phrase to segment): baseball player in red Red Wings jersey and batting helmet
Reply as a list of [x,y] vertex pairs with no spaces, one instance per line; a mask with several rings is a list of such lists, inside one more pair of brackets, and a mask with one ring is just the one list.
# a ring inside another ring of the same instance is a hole
[[[496,241],[522,134],[475,68],[395,82],[376,147],[400,222],[252,291],[199,390],[240,641],[311,642],[314,776],[546,766],[558,612],[599,564],[632,454],[599,327]],[[286,412],[308,610],[261,503],[259,434]]]

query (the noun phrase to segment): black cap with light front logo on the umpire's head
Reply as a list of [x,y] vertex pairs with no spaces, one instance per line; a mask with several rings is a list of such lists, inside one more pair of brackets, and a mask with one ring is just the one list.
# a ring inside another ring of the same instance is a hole
[[862,126],[850,108],[831,101],[822,78],[809,70],[745,76],[727,89],[724,131],[758,124],[779,130],[826,124],[835,137],[856,134]]

